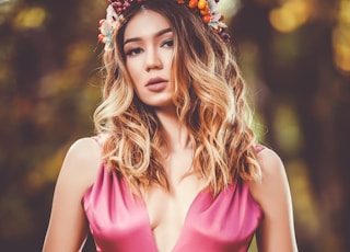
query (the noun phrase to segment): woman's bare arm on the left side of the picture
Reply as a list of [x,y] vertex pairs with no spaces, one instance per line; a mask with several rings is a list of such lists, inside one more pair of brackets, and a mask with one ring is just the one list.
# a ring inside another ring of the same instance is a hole
[[92,138],[78,140],[69,149],[60,170],[43,251],[80,251],[88,234],[81,199],[95,181],[101,148]]

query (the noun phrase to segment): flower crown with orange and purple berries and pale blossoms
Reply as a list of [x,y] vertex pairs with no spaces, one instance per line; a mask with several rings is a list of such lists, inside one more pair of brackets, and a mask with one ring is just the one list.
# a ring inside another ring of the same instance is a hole
[[[100,21],[98,41],[105,44],[105,50],[113,49],[113,32],[117,28],[117,23],[124,19],[122,13],[135,2],[144,0],[108,0],[106,19]],[[201,15],[203,23],[208,24],[212,31],[220,35],[223,42],[230,41],[230,35],[224,31],[228,26],[222,22],[224,16],[218,10],[220,0],[176,0],[178,4],[186,4],[194,12]],[[121,23],[121,22],[120,22]],[[120,25],[119,23],[119,25]]]

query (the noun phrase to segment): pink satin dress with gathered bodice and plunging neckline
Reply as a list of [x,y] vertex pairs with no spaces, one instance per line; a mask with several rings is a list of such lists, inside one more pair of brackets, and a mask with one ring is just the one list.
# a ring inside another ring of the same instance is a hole
[[[97,251],[158,251],[143,199],[135,199],[116,172],[102,165],[82,204]],[[233,183],[215,198],[203,190],[194,199],[172,251],[247,251],[262,218],[245,182]]]

